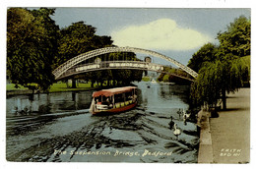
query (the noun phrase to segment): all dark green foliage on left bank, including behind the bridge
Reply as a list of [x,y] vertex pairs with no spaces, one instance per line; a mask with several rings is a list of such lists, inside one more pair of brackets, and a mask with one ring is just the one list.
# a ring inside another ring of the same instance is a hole
[[[29,88],[49,88],[54,82],[52,71],[67,60],[88,51],[112,46],[110,36],[96,35],[96,28],[84,22],[59,29],[50,18],[55,9],[7,11],[7,78]],[[138,60],[131,52],[97,56],[101,61]],[[87,62],[94,62],[96,58]],[[73,79],[97,82],[117,80],[122,84],[141,81],[142,71],[105,70],[77,75]]]

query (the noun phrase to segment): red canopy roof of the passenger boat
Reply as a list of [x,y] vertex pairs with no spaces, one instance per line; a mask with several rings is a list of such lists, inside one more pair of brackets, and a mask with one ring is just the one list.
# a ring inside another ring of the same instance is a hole
[[104,95],[104,96],[108,97],[108,96],[111,96],[114,94],[129,92],[135,88],[137,88],[137,87],[136,86],[124,86],[124,87],[117,87],[117,88],[111,88],[111,89],[102,89],[100,91],[95,91],[93,93],[93,97],[98,97],[100,95]]

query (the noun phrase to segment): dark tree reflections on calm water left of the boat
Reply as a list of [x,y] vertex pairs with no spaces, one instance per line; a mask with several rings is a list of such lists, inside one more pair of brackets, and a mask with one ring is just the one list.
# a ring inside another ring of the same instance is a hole
[[87,109],[92,91],[40,93],[7,98],[7,117],[26,113],[57,113],[64,110]]

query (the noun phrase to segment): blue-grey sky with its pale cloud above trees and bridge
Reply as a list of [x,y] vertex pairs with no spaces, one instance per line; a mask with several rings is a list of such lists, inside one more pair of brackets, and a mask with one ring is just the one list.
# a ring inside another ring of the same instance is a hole
[[52,19],[60,28],[84,21],[117,46],[154,50],[187,65],[205,43],[218,44],[218,32],[241,15],[250,18],[250,9],[66,7],[56,8]]

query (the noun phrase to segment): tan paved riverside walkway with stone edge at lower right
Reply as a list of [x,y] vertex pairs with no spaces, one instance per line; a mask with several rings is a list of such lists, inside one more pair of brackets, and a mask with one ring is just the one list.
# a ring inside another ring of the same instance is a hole
[[226,107],[226,111],[218,112],[218,118],[199,112],[198,163],[250,162],[250,88],[228,94]]

